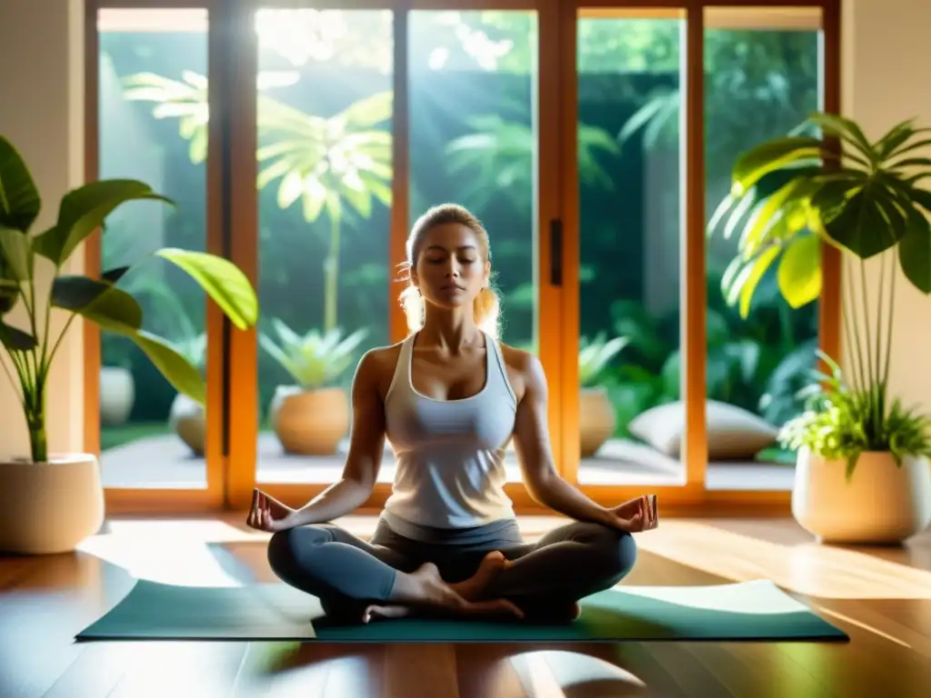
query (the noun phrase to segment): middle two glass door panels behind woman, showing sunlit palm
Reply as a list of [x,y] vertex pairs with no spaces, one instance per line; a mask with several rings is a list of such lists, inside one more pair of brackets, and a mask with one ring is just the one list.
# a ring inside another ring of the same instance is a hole
[[[546,29],[535,2],[483,6],[252,7],[254,75],[243,84],[254,120],[236,129],[255,141],[255,229],[237,225],[235,247],[256,261],[262,320],[250,364],[232,357],[232,399],[254,394],[258,413],[254,447],[239,439],[244,450],[231,453],[242,483],[301,498],[340,477],[354,369],[365,351],[407,334],[400,265],[412,223],[431,206],[458,203],[484,223],[502,340],[558,378],[558,347],[540,333],[559,324],[556,296],[546,300],[559,290],[540,274],[541,234],[559,201],[555,169],[547,182],[541,168],[541,143],[555,154],[558,141],[555,112],[540,109],[556,101],[556,84],[539,47],[542,28],[556,34],[556,15]],[[507,471],[521,490],[512,449]],[[376,499],[393,478],[386,445]]]

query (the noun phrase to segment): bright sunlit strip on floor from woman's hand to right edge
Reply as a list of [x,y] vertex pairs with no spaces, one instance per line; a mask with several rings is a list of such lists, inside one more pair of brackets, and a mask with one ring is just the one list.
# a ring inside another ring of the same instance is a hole
[[931,572],[831,545],[776,544],[675,520],[638,539],[641,550],[735,582],[768,579],[821,598],[931,598]]

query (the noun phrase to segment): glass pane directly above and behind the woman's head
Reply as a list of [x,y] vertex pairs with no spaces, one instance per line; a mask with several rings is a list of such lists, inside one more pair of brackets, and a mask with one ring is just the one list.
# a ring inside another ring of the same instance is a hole
[[[410,16],[410,222],[450,202],[479,217],[491,240],[501,339],[534,353],[536,37],[533,11]],[[519,481],[513,447],[506,469]]]

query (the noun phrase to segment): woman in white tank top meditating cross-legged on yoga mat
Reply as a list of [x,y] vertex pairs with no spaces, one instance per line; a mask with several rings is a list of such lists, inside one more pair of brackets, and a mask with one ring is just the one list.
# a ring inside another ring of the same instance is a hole
[[[362,357],[343,477],[292,510],[256,490],[248,523],[274,533],[268,559],[325,611],[368,623],[412,611],[569,621],[578,600],[623,578],[631,533],[653,528],[655,498],[614,508],[560,478],[539,360],[497,342],[488,234],[465,208],[431,208],[407,243],[401,300],[412,332]],[[371,543],[327,524],[371,494],[385,438],[397,457]],[[504,485],[513,438],[534,500],[574,519],[524,543]]]

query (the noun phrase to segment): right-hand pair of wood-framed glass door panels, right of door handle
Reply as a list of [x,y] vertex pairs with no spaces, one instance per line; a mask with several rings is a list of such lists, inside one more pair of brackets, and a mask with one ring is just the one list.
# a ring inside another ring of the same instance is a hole
[[600,499],[788,503],[777,435],[836,351],[836,258],[800,238],[821,286],[791,305],[785,252],[740,259],[711,221],[741,153],[838,109],[839,8],[642,5],[562,22],[563,473]]

